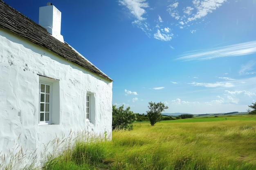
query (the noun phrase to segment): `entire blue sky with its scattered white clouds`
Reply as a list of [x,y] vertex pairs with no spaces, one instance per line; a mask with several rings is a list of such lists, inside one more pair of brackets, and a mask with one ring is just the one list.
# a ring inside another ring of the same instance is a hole
[[[38,23],[43,0],[4,0]],[[245,112],[256,102],[256,0],[52,0],[61,34],[146,113]]]

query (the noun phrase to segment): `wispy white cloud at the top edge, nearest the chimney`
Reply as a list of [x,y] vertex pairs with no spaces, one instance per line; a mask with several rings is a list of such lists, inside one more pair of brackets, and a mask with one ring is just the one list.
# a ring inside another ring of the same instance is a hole
[[119,0],[120,5],[126,6],[132,15],[137,18],[137,20],[145,20],[146,18],[143,18],[142,15],[146,13],[144,8],[149,7],[148,2],[145,2],[146,0]]

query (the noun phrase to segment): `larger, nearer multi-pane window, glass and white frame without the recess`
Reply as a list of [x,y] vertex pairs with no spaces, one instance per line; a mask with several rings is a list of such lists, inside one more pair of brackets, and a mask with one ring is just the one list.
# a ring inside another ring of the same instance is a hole
[[40,82],[40,123],[52,122],[52,84]]

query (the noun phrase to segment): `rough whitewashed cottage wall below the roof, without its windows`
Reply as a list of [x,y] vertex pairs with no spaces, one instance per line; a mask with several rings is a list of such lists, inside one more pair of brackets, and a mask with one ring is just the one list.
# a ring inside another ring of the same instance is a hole
[[[39,123],[39,76],[59,80],[60,122]],[[85,121],[85,96],[95,97],[95,118]],[[50,140],[87,130],[112,136],[112,82],[55,53],[0,29],[0,150],[14,142],[33,151]],[[20,138],[18,139],[18,137]]]

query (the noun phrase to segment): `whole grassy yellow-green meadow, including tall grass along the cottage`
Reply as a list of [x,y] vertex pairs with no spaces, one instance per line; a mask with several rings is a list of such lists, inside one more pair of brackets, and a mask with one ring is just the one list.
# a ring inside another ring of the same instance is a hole
[[256,116],[135,122],[112,141],[80,135],[66,146],[43,170],[255,170]]

